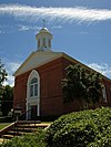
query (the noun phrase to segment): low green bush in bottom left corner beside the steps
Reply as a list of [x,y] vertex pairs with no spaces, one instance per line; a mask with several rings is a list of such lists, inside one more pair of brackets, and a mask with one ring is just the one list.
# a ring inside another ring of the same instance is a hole
[[2,144],[0,147],[47,147],[44,143],[44,132],[28,134],[22,137],[14,137],[11,140]]

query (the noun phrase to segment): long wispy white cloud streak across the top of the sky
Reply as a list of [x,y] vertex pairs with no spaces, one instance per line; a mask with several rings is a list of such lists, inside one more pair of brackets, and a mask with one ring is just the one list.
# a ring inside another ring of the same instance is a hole
[[37,22],[39,19],[61,22],[93,22],[111,20],[111,10],[88,8],[36,8],[20,4],[1,4],[0,14],[9,14],[16,19]]

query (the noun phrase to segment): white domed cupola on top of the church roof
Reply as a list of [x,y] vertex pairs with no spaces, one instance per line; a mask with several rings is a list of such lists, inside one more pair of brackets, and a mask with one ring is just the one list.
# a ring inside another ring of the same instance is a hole
[[51,51],[52,34],[47,28],[42,28],[36,35],[38,42],[38,51]]

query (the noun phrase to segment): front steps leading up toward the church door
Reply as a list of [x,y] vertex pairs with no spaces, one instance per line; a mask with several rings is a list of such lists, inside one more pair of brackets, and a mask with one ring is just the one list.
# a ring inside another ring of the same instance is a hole
[[14,136],[22,136],[24,134],[31,134],[37,132],[38,128],[46,128],[49,124],[41,124],[39,120],[18,120],[12,124],[12,127],[4,128],[6,130],[1,130],[0,137],[1,139],[11,139]]

